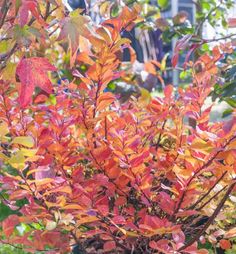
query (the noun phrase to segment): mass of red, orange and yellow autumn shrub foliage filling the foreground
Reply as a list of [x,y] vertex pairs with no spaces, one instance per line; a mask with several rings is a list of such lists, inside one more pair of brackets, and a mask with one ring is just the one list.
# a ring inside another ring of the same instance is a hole
[[[230,249],[236,115],[211,123],[212,105],[204,107],[225,49],[189,63],[186,89],[167,85],[163,98],[143,90],[121,103],[105,88],[125,78],[120,55],[130,45],[120,33],[139,22],[138,6],[95,26],[79,11],[65,16],[60,1],[9,2],[1,16],[10,37],[0,81],[2,244],[32,253]],[[62,66],[71,80],[61,79]]]

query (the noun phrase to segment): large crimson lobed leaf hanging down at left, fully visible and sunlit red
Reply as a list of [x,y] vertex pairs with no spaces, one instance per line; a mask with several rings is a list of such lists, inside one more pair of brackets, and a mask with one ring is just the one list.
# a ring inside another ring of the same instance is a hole
[[24,58],[19,62],[16,74],[21,81],[19,102],[22,107],[31,102],[31,96],[36,86],[47,93],[52,92],[52,84],[47,76],[47,71],[56,71],[56,68],[46,58]]

